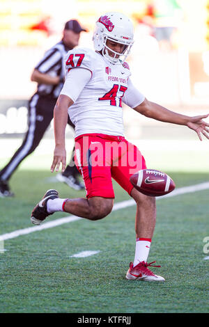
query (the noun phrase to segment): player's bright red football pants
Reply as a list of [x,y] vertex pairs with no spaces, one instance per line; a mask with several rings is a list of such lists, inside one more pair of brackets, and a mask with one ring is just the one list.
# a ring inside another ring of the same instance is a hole
[[123,136],[84,134],[75,138],[75,164],[82,174],[86,197],[114,198],[111,178],[127,193],[133,186],[130,176],[146,168],[139,149]]

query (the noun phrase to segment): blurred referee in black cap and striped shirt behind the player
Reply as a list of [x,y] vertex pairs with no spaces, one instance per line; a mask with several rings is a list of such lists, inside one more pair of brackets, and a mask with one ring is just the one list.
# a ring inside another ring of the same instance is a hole
[[[79,36],[82,31],[86,31],[86,29],[82,28],[77,20],[72,19],[66,22],[62,40],[46,51],[42,60],[33,70],[31,81],[36,81],[38,88],[29,100],[29,128],[22,145],[8,164],[0,170],[0,197],[14,196],[8,185],[10,177],[20,163],[38,147],[47,127],[49,127],[52,121],[54,106],[63,88],[65,78],[65,55],[79,44]],[[68,124],[73,129],[75,128],[69,117]],[[84,184],[79,182],[79,172],[75,166],[73,154],[74,149],[65,172],[58,174],[57,178],[73,189],[84,189]]]

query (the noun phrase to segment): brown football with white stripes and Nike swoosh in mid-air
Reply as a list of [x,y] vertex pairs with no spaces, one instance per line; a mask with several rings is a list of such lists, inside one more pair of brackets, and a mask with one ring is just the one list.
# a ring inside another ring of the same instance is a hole
[[155,169],[143,169],[130,177],[130,182],[146,196],[164,196],[175,189],[175,183],[166,173]]

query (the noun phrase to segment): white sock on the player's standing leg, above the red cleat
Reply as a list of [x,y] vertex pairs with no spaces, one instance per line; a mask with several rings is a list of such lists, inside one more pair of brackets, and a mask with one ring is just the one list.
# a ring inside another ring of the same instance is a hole
[[151,239],[145,239],[144,237],[139,237],[136,241],[135,257],[134,257],[134,266],[137,266],[141,261],[147,261]]

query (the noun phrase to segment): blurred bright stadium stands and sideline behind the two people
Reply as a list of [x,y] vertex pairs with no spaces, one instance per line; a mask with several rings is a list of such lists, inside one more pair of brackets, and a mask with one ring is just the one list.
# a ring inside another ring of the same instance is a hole
[[[27,101],[36,90],[36,83],[30,80],[33,67],[46,49],[61,40],[63,26],[69,19],[78,19],[89,31],[81,34],[80,46],[93,47],[93,26],[107,11],[125,13],[134,22],[135,42],[127,61],[132,70],[132,81],[139,90],[148,99],[174,111],[188,115],[208,113],[208,0],[59,0],[59,3],[0,0],[2,164],[3,159],[10,157],[20,145],[26,131]],[[128,108],[124,108],[124,121],[127,138],[143,152],[153,153],[157,149],[164,155],[170,152],[169,168],[199,169],[196,165],[201,162],[201,168],[209,170],[208,143],[200,143],[193,131],[149,120]],[[52,126],[36,150],[37,154],[52,154]],[[71,145],[73,132],[70,127],[67,137]],[[174,160],[177,151],[187,154],[186,161]],[[195,164],[189,160],[194,155],[199,156]],[[152,161],[153,157],[155,161]],[[157,168],[158,157],[155,154],[153,157],[150,157],[150,165],[155,164]],[[162,157],[158,159],[159,168],[164,168]]]

